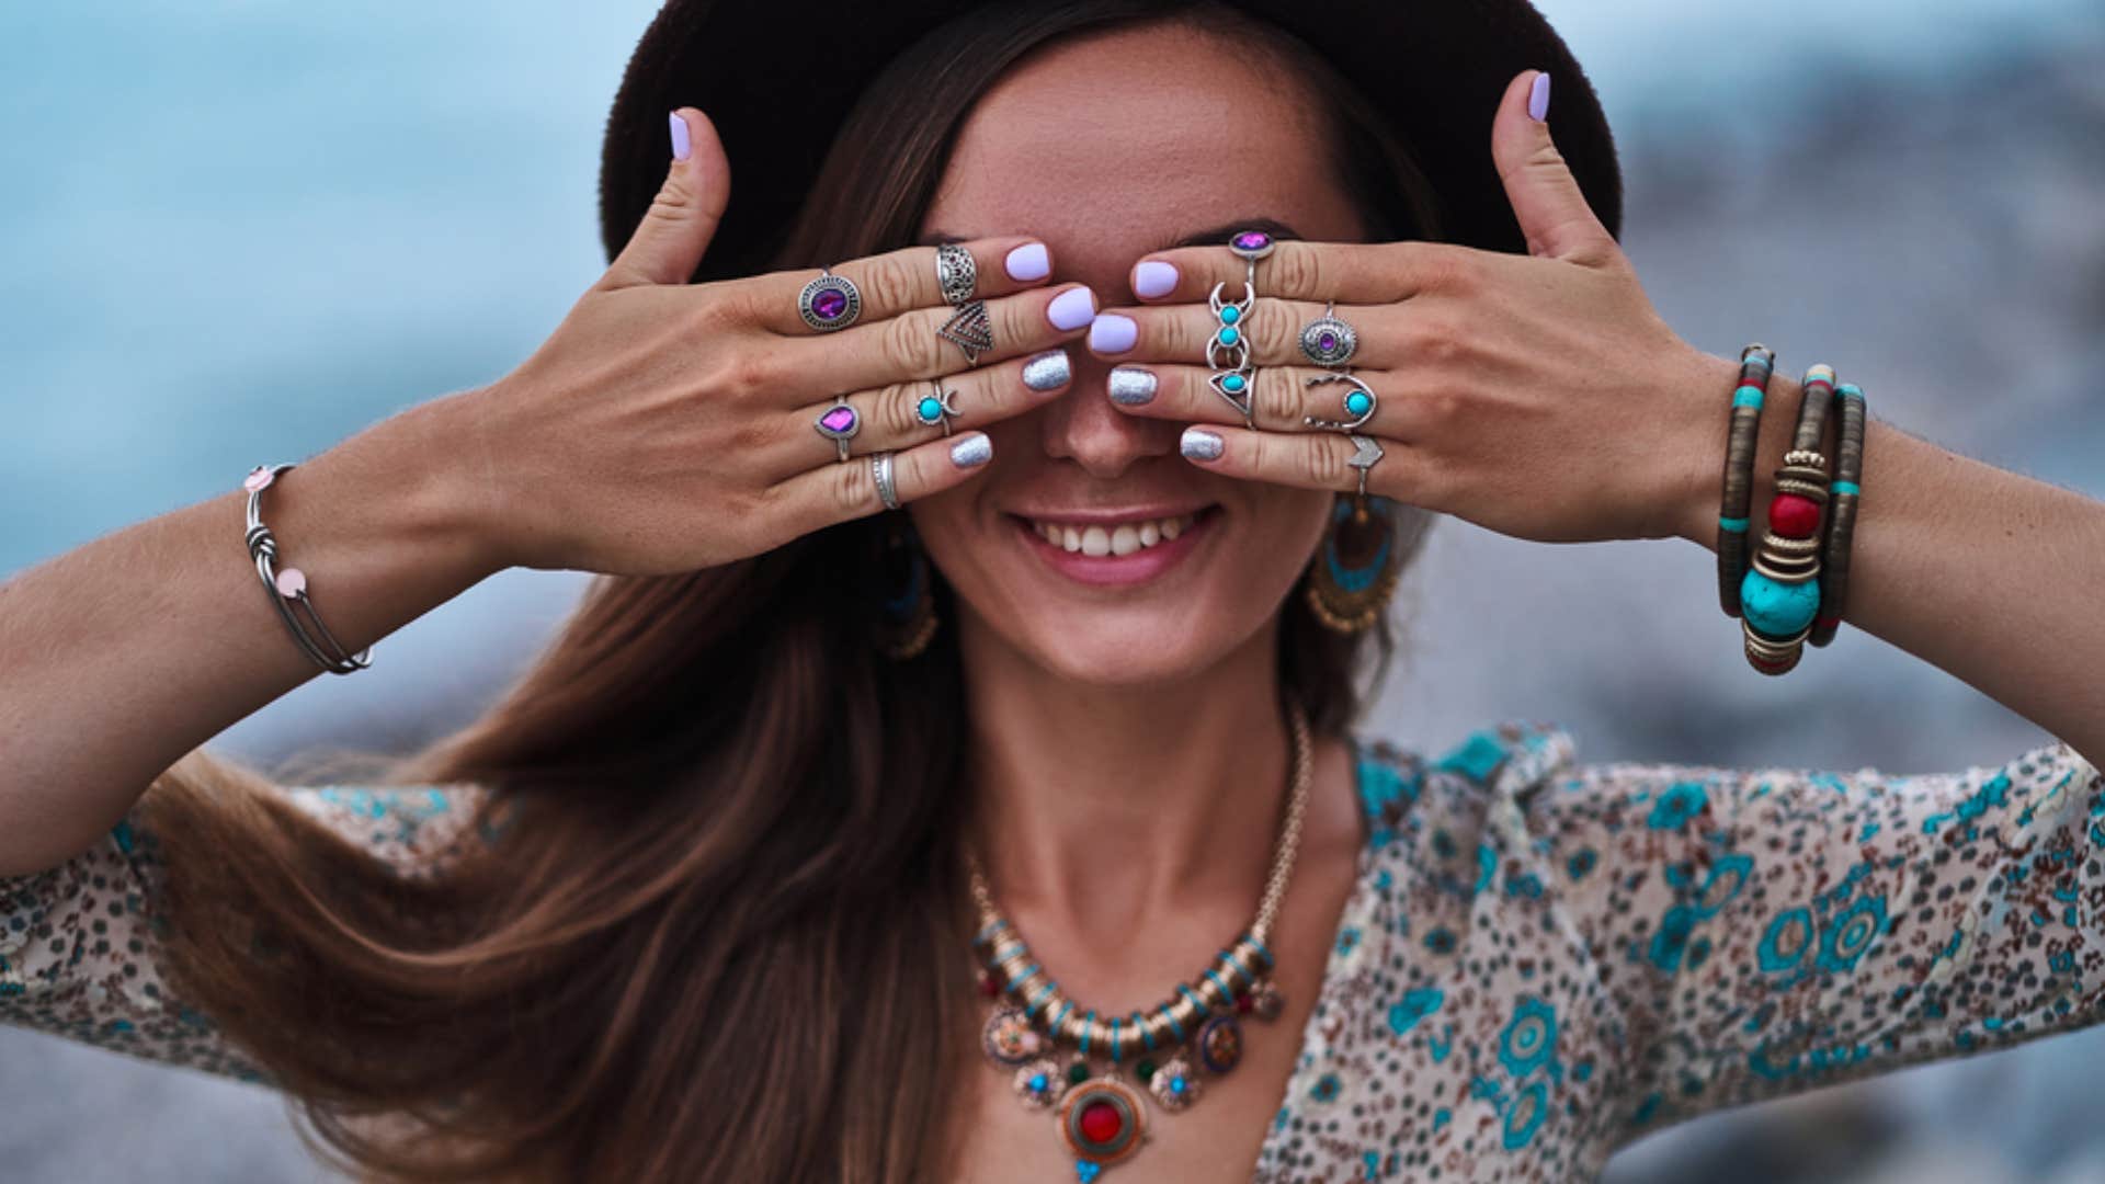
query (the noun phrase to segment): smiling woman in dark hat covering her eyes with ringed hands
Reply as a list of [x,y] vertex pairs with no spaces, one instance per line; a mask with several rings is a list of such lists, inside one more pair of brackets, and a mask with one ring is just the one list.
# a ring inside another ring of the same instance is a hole
[[[798,32],[861,74],[773,86],[754,8],[646,34],[619,255],[512,375],[6,586],[0,1015],[375,1178],[884,1182],[1583,1178],[2086,1022],[2071,493],[1865,428],[1848,621],[2061,737],[2000,767],[1351,731],[1429,512],[1724,535],[1741,360],[1644,299],[1532,8],[840,6]],[[341,645],[278,636],[244,504]],[[385,784],[198,750],[514,565],[608,577]]]

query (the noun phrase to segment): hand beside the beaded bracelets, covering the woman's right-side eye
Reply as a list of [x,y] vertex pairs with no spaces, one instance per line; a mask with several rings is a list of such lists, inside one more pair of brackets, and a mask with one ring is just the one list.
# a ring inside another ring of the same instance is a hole
[[[1130,350],[1092,350],[1154,375],[1114,381],[1132,415],[1196,421],[1185,455],[1229,476],[1351,491],[1354,440],[1305,417],[1341,421],[1349,383],[1303,356],[1309,320],[1358,331],[1345,362],[1375,394],[1356,434],[1381,447],[1368,493],[1442,510],[1539,541],[1669,537],[1686,529],[1690,491],[1716,489],[1730,364],[1682,341],[1652,310],[1621,246],[1585,204],[1528,116],[1520,74],[1492,122],[1492,156],[1530,255],[1442,242],[1324,244],[1286,240],[1257,261],[1257,303],[1240,327],[1255,367],[1257,432],[1212,386],[1206,297],[1238,299],[1244,261],[1225,246],[1149,255],[1132,272],[1143,308]],[[1175,268],[1175,278],[1160,268]],[[1311,379],[1330,379],[1316,381]],[[1215,449],[1217,438],[1219,447]],[[1215,457],[1206,453],[1217,451]],[[1360,451],[1360,455],[1366,455]],[[1713,493],[1711,493],[1713,495]]]

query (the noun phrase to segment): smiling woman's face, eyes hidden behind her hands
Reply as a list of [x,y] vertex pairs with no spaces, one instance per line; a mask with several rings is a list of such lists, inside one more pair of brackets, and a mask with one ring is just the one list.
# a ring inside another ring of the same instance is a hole
[[[981,99],[922,230],[1040,236],[1055,280],[1086,282],[1099,308],[1132,305],[1132,263],[1196,234],[1225,242],[1274,219],[1299,238],[1362,238],[1322,145],[1314,99],[1261,55],[1185,25],[1092,34],[1046,46]],[[1259,261],[1259,301],[1263,276]],[[1109,402],[1114,360],[1067,350],[1069,390],[996,423],[987,472],[918,501],[914,525],[968,643],[1088,683],[1202,672],[1274,619],[1332,495],[1196,468],[1177,451],[1181,423]],[[1090,556],[1042,525],[1101,529],[1114,550],[1160,541]]]

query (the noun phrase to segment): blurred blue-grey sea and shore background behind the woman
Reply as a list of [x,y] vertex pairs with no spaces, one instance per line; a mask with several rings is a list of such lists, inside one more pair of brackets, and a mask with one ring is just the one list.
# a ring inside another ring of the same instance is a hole
[[[1878,417],[2105,495],[2105,4],[1537,2],[1608,107],[1623,240],[1682,337],[1831,362]],[[598,137],[653,11],[0,6],[0,575],[524,358],[602,268]],[[2046,739],[1855,630],[1753,676],[1711,579],[1680,541],[1444,520],[1370,729],[1436,746],[1526,716],[1570,727],[1583,761],[1888,771]],[[493,577],[215,748],[427,739],[581,588]],[[2101,1058],[2092,1030],[1716,1114],[1608,1180],[2105,1180]],[[272,1093],[19,1030],[0,1030],[0,1165],[324,1178]]]

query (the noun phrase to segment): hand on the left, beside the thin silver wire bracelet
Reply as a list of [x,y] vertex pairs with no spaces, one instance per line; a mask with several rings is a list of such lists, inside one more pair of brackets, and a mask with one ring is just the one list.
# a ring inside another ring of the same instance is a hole
[[[1052,263],[1029,238],[962,244],[994,327],[977,369],[937,333],[954,310],[935,246],[834,265],[861,314],[831,333],[798,312],[819,272],[688,284],[730,166],[701,112],[676,112],[676,143],[682,131],[693,152],[556,333],[497,383],[453,396],[448,423],[486,482],[478,518],[505,567],[657,575],[751,556],[882,510],[869,453],[897,451],[901,501],[968,480],[991,455],[968,428],[1069,381],[1057,346],[1088,324],[1095,297],[1042,287]],[[937,417],[951,434],[916,415],[937,390],[951,392],[956,417]],[[848,461],[815,426],[836,396],[859,417]]]

